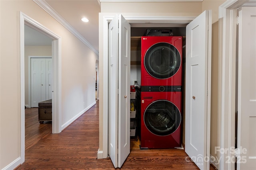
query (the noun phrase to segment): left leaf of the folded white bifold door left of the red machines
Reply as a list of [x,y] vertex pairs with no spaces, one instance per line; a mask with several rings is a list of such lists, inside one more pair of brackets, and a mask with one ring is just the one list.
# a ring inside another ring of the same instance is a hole
[[108,154],[118,166],[118,16],[108,28]]

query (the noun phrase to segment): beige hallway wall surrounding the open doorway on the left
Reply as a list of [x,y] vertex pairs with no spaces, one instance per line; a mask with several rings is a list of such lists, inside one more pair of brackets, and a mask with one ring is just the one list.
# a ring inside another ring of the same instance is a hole
[[0,0],[0,169],[21,156],[20,11],[61,37],[61,124],[95,102],[98,56],[32,0]]

